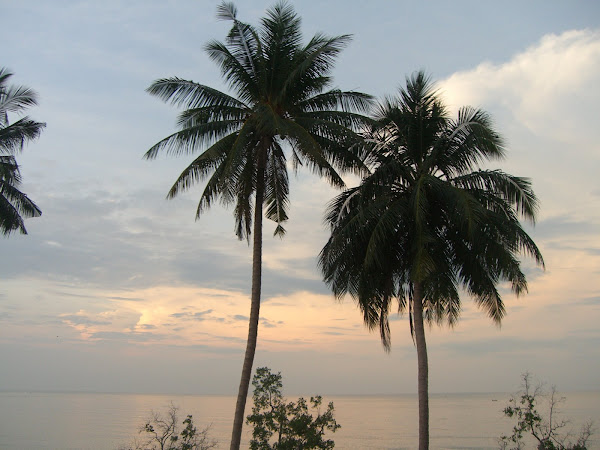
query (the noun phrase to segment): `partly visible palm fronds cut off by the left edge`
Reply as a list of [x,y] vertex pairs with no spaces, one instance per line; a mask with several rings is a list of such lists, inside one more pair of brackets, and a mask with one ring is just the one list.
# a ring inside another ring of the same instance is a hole
[[37,104],[36,93],[24,86],[9,85],[12,77],[0,68],[0,232],[8,236],[19,230],[27,234],[23,217],[37,217],[42,211],[19,190],[21,173],[15,153],[23,150],[26,142],[36,139],[46,126],[25,116],[9,123],[8,114],[19,114]]

